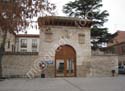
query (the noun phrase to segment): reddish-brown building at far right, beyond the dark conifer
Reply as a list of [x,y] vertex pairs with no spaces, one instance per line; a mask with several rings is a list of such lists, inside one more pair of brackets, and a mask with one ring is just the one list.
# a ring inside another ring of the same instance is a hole
[[117,31],[108,42],[108,53],[125,55],[125,31]]

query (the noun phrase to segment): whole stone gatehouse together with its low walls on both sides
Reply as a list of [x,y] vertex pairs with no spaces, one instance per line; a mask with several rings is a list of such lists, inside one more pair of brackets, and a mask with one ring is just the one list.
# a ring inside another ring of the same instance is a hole
[[[6,54],[2,60],[4,77],[93,77],[111,76],[117,56],[92,56],[91,21],[48,16],[38,19],[39,52]],[[40,70],[40,63],[47,66]]]

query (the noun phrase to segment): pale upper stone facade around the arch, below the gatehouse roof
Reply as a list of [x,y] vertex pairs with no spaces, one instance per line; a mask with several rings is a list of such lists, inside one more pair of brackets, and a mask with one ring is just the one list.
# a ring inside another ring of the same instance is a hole
[[[77,65],[82,65],[83,61],[90,61],[91,44],[89,28],[64,27],[64,26],[47,26],[52,32],[52,41],[46,42],[46,27],[42,27],[40,31],[40,52],[39,56],[51,56],[51,60],[55,60],[55,51],[62,45],[70,45],[76,51]],[[78,35],[84,34],[85,40],[83,44],[79,43]],[[69,36],[67,38],[67,36]]]

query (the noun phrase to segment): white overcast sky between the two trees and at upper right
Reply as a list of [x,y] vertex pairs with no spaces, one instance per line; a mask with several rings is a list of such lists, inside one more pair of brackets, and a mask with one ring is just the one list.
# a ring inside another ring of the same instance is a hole
[[[56,4],[56,15],[64,16],[62,12],[62,6],[69,1],[74,0],[49,0]],[[110,33],[114,33],[117,30],[125,31],[125,0],[103,0],[102,10],[108,10],[110,16],[109,21],[105,23],[105,27],[109,28]]]

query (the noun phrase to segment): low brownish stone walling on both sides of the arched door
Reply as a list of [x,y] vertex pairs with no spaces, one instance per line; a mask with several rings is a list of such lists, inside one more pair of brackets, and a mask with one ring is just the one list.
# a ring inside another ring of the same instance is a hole
[[[34,71],[34,62],[38,55],[4,55],[2,60],[4,77],[26,77],[27,72]],[[77,65],[77,77],[104,77],[112,76],[111,70],[118,71],[118,56],[92,56],[89,61],[84,60]],[[40,77],[41,72],[35,73]],[[55,65],[49,64],[45,71],[46,77],[55,77]]]

